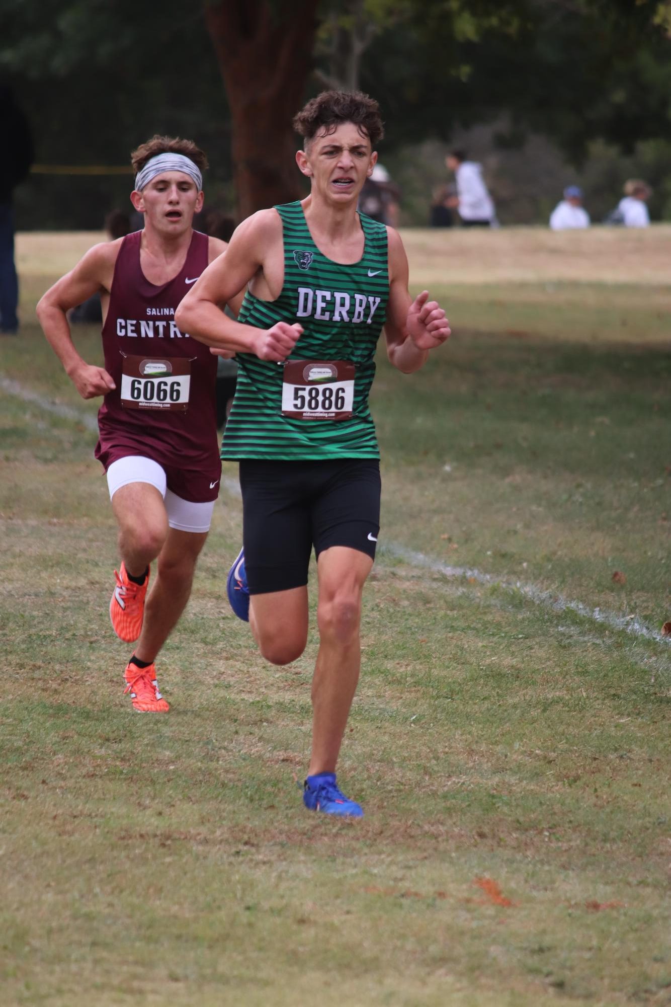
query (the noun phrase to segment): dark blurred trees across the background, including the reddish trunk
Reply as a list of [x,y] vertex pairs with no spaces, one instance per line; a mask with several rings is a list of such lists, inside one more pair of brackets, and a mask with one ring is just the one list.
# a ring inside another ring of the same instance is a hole
[[[0,73],[41,164],[120,166],[154,132],[193,137],[208,200],[238,217],[300,194],[291,117],[332,85],[380,101],[405,223],[425,223],[457,139],[492,173],[504,221],[545,220],[576,179],[599,219],[631,173],[659,217],[670,35],[659,0],[4,0]],[[100,227],[131,181],[34,175],[19,226]]]

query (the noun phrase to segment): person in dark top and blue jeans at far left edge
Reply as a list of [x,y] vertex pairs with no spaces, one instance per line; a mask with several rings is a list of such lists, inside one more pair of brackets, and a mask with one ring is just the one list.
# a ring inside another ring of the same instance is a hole
[[14,102],[8,85],[0,83],[0,333],[18,330],[19,285],[14,265],[12,192],[28,174],[33,161],[28,120]]

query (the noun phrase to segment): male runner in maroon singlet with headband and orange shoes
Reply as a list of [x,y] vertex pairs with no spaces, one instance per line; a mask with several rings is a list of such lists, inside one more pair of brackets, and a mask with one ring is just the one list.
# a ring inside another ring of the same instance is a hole
[[[154,662],[188,601],[221,476],[216,356],[180,332],[174,315],[226,244],[191,227],[207,167],[194,143],[155,136],[132,161],[131,200],[145,214],[144,230],[91,249],[44,294],[37,315],[81,398],[105,397],[96,457],[107,472],[122,557],[110,616],[121,639],[138,640],[125,673],[134,708],[166,712]],[[79,356],[66,317],[97,292],[104,368]]]

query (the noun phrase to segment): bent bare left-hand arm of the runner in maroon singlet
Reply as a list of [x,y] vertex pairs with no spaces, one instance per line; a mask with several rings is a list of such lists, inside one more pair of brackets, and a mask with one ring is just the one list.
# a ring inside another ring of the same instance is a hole
[[82,399],[106,395],[115,388],[105,368],[87,364],[74,348],[66,312],[88,297],[109,290],[120,242],[95,245],[80,262],[46,291],[36,309],[51,348]]

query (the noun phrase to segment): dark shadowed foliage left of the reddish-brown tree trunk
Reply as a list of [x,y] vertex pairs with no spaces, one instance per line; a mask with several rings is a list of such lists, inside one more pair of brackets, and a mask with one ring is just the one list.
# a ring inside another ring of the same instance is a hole
[[[230,201],[226,96],[202,10],[184,0],[4,0],[0,74],[48,165],[129,165],[154,133],[197,139],[206,195]],[[16,193],[23,227],[102,227],[130,208],[132,175],[37,175]]]

